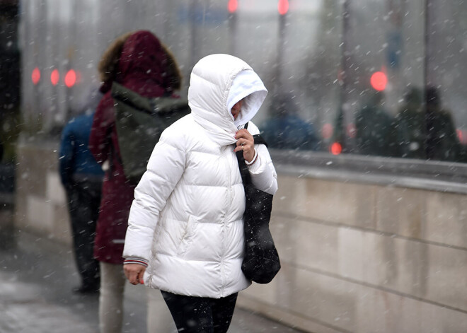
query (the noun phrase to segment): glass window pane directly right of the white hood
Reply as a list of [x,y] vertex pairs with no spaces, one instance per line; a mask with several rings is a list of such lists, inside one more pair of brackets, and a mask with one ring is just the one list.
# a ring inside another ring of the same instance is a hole
[[270,148],[319,151],[332,137],[339,94],[341,8],[338,1],[291,1],[279,16],[267,119]]

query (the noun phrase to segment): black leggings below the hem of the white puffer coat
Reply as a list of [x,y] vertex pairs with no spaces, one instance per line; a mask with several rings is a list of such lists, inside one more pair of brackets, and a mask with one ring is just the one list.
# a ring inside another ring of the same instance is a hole
[[238,296],[233,293],[224,298],[205,298],[161,293],[178,332],[183,333],[226,333]]

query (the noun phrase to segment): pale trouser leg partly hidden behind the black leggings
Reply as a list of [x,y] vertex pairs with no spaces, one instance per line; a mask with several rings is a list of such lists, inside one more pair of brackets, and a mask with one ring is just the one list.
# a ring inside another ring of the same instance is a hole
[[148,314],[146,323],[148,333],[174,333],[177,328],[173,323],[171,312],[158,289],[147,288]]

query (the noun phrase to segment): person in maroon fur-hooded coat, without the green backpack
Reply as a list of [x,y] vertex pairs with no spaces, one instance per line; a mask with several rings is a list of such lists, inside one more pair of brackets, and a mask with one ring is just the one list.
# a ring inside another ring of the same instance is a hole
[[173,55],[155,35],[143,30],[118,37],[104,52],[98,69],[104,95],[94,115],[89,149],[105,170],[94,246],[101,271],[99,321],[101,332],[121,332],[122,252],[134,185],[120,162],[110,89],[117,82],[144,97],[173,95],[180,89],[181,76]]

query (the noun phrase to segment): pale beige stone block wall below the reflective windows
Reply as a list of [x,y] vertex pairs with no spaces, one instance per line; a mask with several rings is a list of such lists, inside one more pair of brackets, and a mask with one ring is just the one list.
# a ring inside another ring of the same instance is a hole
[[[18,152],[16,228],[69,243],[55,144]],[[306,332],[466,332],[467,197],[279,175],[282,269],[238,305]]]

